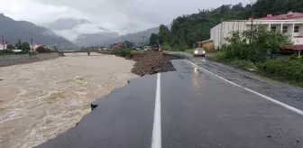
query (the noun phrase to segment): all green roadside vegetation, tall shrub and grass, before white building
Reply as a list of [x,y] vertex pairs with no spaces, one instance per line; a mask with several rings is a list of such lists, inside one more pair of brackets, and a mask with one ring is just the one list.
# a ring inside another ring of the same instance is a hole
[[286,35],[258,28],[233,32],[226,41],[228,44],[221,47],[214,60],[303,87],[303,59],[295,55],[278,57],[280,47],[290,43]]

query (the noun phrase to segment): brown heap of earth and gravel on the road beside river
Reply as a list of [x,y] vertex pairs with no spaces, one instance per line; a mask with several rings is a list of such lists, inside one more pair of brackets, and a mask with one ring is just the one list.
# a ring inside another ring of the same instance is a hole
[[132,72],[139,76],[152,75],[159,72],[173,71],[170,60],[178,60],[180,57],[165,54],[160,51],[150,51],[134,64]]

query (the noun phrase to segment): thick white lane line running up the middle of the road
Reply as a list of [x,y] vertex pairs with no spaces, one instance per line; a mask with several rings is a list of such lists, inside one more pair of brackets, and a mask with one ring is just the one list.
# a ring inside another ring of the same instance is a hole
[[157,75],[156,103],[152,127],[152,148],[161,148],[161,73]]

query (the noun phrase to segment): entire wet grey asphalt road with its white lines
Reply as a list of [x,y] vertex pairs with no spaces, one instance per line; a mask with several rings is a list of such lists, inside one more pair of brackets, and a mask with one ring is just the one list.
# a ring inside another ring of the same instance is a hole
[[302,89],[208,60],[172,63],[176,71],[133,79],[97,99],[77,126],[38,147],[303,147]]

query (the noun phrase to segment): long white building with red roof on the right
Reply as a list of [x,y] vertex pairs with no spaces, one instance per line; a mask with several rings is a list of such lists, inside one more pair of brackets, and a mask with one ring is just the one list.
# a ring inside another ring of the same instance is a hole
[[272,32],[286,33],[293,45],[287,46],[288,49],[303,50],[303,14],[292,13],[271,15],[259,19],[250,20],[228,20],[217,24],[210,30],[210,40],[214,41],[215,48],[227,43],[225,38],[230,32],[250,30],[258,26],[263,26]]

